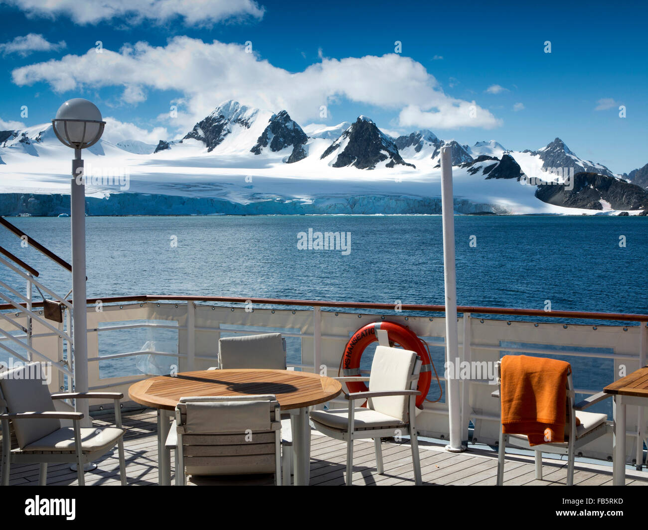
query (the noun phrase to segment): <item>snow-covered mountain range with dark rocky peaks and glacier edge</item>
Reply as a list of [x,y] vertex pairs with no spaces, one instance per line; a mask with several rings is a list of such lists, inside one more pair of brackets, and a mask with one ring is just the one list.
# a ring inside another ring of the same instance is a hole
[[[102,140],[84,150],[84,159],[87,168],[130,175],[123,188],[89,179],[95,214],[439,213],[444,145],[459,213],[639,213],[635,207],[645,203],[636,186],[579,158],[560,139],[513,151],[494,140],[474,146],[442,140],[429,130],[393,138],[364,116],[301,127],[286,109],[233,100],[181,139]],[[64,213],[70,158],[51,124],[0,131],[0,214]],[[640,183],[644,169],[624,176]],[[605,178],[579,176],[585,184],[568,189],[573,175],[587,172]],[[529,177],[537,185],[523,185]]]

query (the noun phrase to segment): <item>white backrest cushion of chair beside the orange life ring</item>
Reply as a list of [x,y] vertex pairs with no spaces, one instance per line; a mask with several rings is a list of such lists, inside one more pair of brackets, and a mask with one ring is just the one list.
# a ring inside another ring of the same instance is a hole
[[[376,347],[369,375],[369,391],[410,389],[410,378],[416,360],[417,355],[413,351],[386,346]],[[408,402],[409,397],[407,396],[372,398],[369,408],[406,422],[408,421]]]

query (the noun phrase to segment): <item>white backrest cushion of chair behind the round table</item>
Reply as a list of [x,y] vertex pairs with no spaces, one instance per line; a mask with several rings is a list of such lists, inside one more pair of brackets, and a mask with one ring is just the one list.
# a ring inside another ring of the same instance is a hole
[[225,337],[218,341],[222,369],[286,369],[286,351],[281,333]]

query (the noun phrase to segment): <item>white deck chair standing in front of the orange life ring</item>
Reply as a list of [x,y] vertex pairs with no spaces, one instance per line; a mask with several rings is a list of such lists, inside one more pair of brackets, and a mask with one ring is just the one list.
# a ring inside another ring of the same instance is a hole
[[[380,439],[394,435],[410,435],[414,477],[421,484],[419,443],[415,426],[416,386],[421,360],[413,351],[376,347],[367,377],[340,377],[341,382],[369,381],[368,392],[346,394],[349,407],[312,411],[315,428],[325,435],[347,442],[347,486],[353,484],[353,441],[373,438],[376,449],[376,470],[384,472]],[[356,401],[367,399],[367,408],[356,407]]]

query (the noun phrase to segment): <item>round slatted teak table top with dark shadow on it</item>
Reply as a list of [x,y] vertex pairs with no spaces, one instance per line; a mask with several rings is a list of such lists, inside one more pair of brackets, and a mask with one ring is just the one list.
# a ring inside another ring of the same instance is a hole
[[181,397],[273,394],[282,410],[325,403],[342,390],[339,381],[289,370],[201,370],[138,381],[129,397],[157,409],[174,410]]

